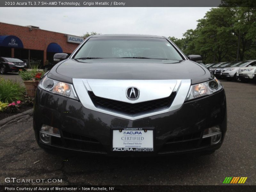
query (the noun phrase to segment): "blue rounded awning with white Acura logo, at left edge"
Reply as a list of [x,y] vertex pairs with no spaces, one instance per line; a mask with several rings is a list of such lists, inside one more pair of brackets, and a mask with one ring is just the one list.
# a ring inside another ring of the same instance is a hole
[[0,36],[0,46],[12,47],[12,48],[23,48],[23,43],[19,37],[14,35]]

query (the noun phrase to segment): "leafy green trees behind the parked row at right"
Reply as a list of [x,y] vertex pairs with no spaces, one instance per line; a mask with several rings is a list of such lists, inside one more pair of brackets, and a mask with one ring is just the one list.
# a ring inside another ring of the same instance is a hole
[[197,21],[183,38],[169,37],[186,55],[200,54],[205,63],[255,59],[255,8],[212,8]]

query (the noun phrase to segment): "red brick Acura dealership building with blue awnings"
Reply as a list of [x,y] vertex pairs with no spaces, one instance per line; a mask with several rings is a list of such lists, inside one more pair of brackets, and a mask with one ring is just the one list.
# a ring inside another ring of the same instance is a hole
[[41,60],[52,62],[55,53],[71,54],[84,40],[35,26],[19,26],[0,22],[0,56],[15,57],[26,62]]

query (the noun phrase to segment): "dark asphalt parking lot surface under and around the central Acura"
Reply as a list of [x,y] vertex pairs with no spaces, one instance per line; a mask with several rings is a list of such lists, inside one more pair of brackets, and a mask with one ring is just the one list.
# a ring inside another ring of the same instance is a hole
[[227,96],[228,131],[222,147],[212,155],[50,155],[37,146],[32,117],[28,116],[0,127],[0,184],[13,184],[4,179],[16,177],[62,179],[62,183],[39,183],[48,185],[221,185],[232,176],[248,177],[244,185],[256,185],[256,84],[222,84]]

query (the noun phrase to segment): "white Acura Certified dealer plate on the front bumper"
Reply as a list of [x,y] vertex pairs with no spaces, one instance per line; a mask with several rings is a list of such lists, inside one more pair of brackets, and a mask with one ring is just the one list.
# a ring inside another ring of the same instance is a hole
[[114,128],[112,151],[154,151],[153,128]]

